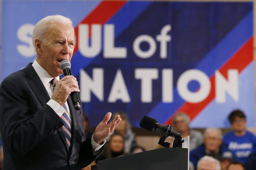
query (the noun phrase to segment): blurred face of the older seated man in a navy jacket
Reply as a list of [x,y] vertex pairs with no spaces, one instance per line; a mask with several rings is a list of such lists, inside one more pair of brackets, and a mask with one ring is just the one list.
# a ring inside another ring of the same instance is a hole
[[217,130],[209,131],[204,138],[205,147],[210,151],[217,151],[222,144],[222,140]]

